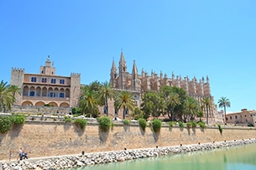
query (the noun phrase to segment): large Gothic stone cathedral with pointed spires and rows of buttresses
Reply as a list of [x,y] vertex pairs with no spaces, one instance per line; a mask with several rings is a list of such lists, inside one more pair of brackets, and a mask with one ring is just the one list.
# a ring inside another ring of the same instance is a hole
[[[188,95],[194,97],[199,105],[201,106],[201,100],[203,97],[212,97],[210,89],[210,81],[208,76],[206,80],[202,77],[199,81],[196,77],[191,80],[186,76],[184,79],[181,76],[175,76],[174,74],[171,77],[168,77],[166,74],[163,75],[162,72],[160,75],[151,71],[149,75],[144,70],[141,71],[141,74],[138,74],[137,66],[135,61],[133,61],[133,70],[132,73],[129,73],[127,70],[127,64],[124,59],[123,51],[121,52],[118,69],[115,64],[115,61],[112,61],[112,68],[110,74],[110,84],[115,90],[128,90],[134,95],[135,106],[139,106],[141,103],[141,95],[144,94],[147,90],[160,90],[164,85],[177,86],[184,89]],[[209,111],[209,117],[212,118],[212,121],[217,118],[217,106],[212,100],[211,111]],[[220,118],[222,119],[222,118]],[[211,121],[211,120],[210,120]]]

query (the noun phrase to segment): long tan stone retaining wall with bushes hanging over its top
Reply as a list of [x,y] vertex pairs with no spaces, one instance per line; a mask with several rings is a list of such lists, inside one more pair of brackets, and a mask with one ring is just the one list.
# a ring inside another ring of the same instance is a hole
[[18,157],[18,148],[30,152],[29,157],[48,157],[105,152],[113,150],[168,147],[180,144],[222,142],[255,138],[255,128],[223,127],[222,135],[217,126],[201,129],[163,126],[159,134],[146,131],[138,125],[123,126],[119,122],[112,130],[102,132],[96,122],[84,130],[63,121],[26,121],[23,126],[13,126],[6,134],[0,134],[0,160],[8,159],[13,150],[13,159]]

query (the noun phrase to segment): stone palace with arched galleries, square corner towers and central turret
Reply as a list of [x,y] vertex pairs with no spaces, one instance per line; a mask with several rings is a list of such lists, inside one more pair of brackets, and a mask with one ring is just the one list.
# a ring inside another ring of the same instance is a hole
[[39,74],[25,73],[24,69],[12,68],[10,85],[18,85],[21,95],[16,94],[17,106],[74,107],[78,105],[81,75],[70,77],[55,75],[55,67],[48,56]]

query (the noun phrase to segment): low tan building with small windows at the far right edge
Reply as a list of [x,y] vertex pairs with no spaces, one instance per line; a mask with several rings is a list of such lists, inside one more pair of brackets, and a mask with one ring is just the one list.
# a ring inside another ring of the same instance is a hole
[[241,112],[226,114],[226,121],[229,124],[238,124],[248,126],[251,124],[256,126],[256,111],[241,110]]

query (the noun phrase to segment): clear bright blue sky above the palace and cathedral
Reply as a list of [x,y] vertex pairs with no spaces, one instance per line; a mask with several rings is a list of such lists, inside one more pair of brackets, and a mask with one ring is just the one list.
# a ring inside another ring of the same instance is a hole
[[[128,71],[191,80],[209,77],[227,112],[256,110],[254,0],[0,0],[0,80],[39,73],[50,55],[56,75],[81,84],[110,80],[123,50]],[[218,108],[222,110],[222,108]]]

